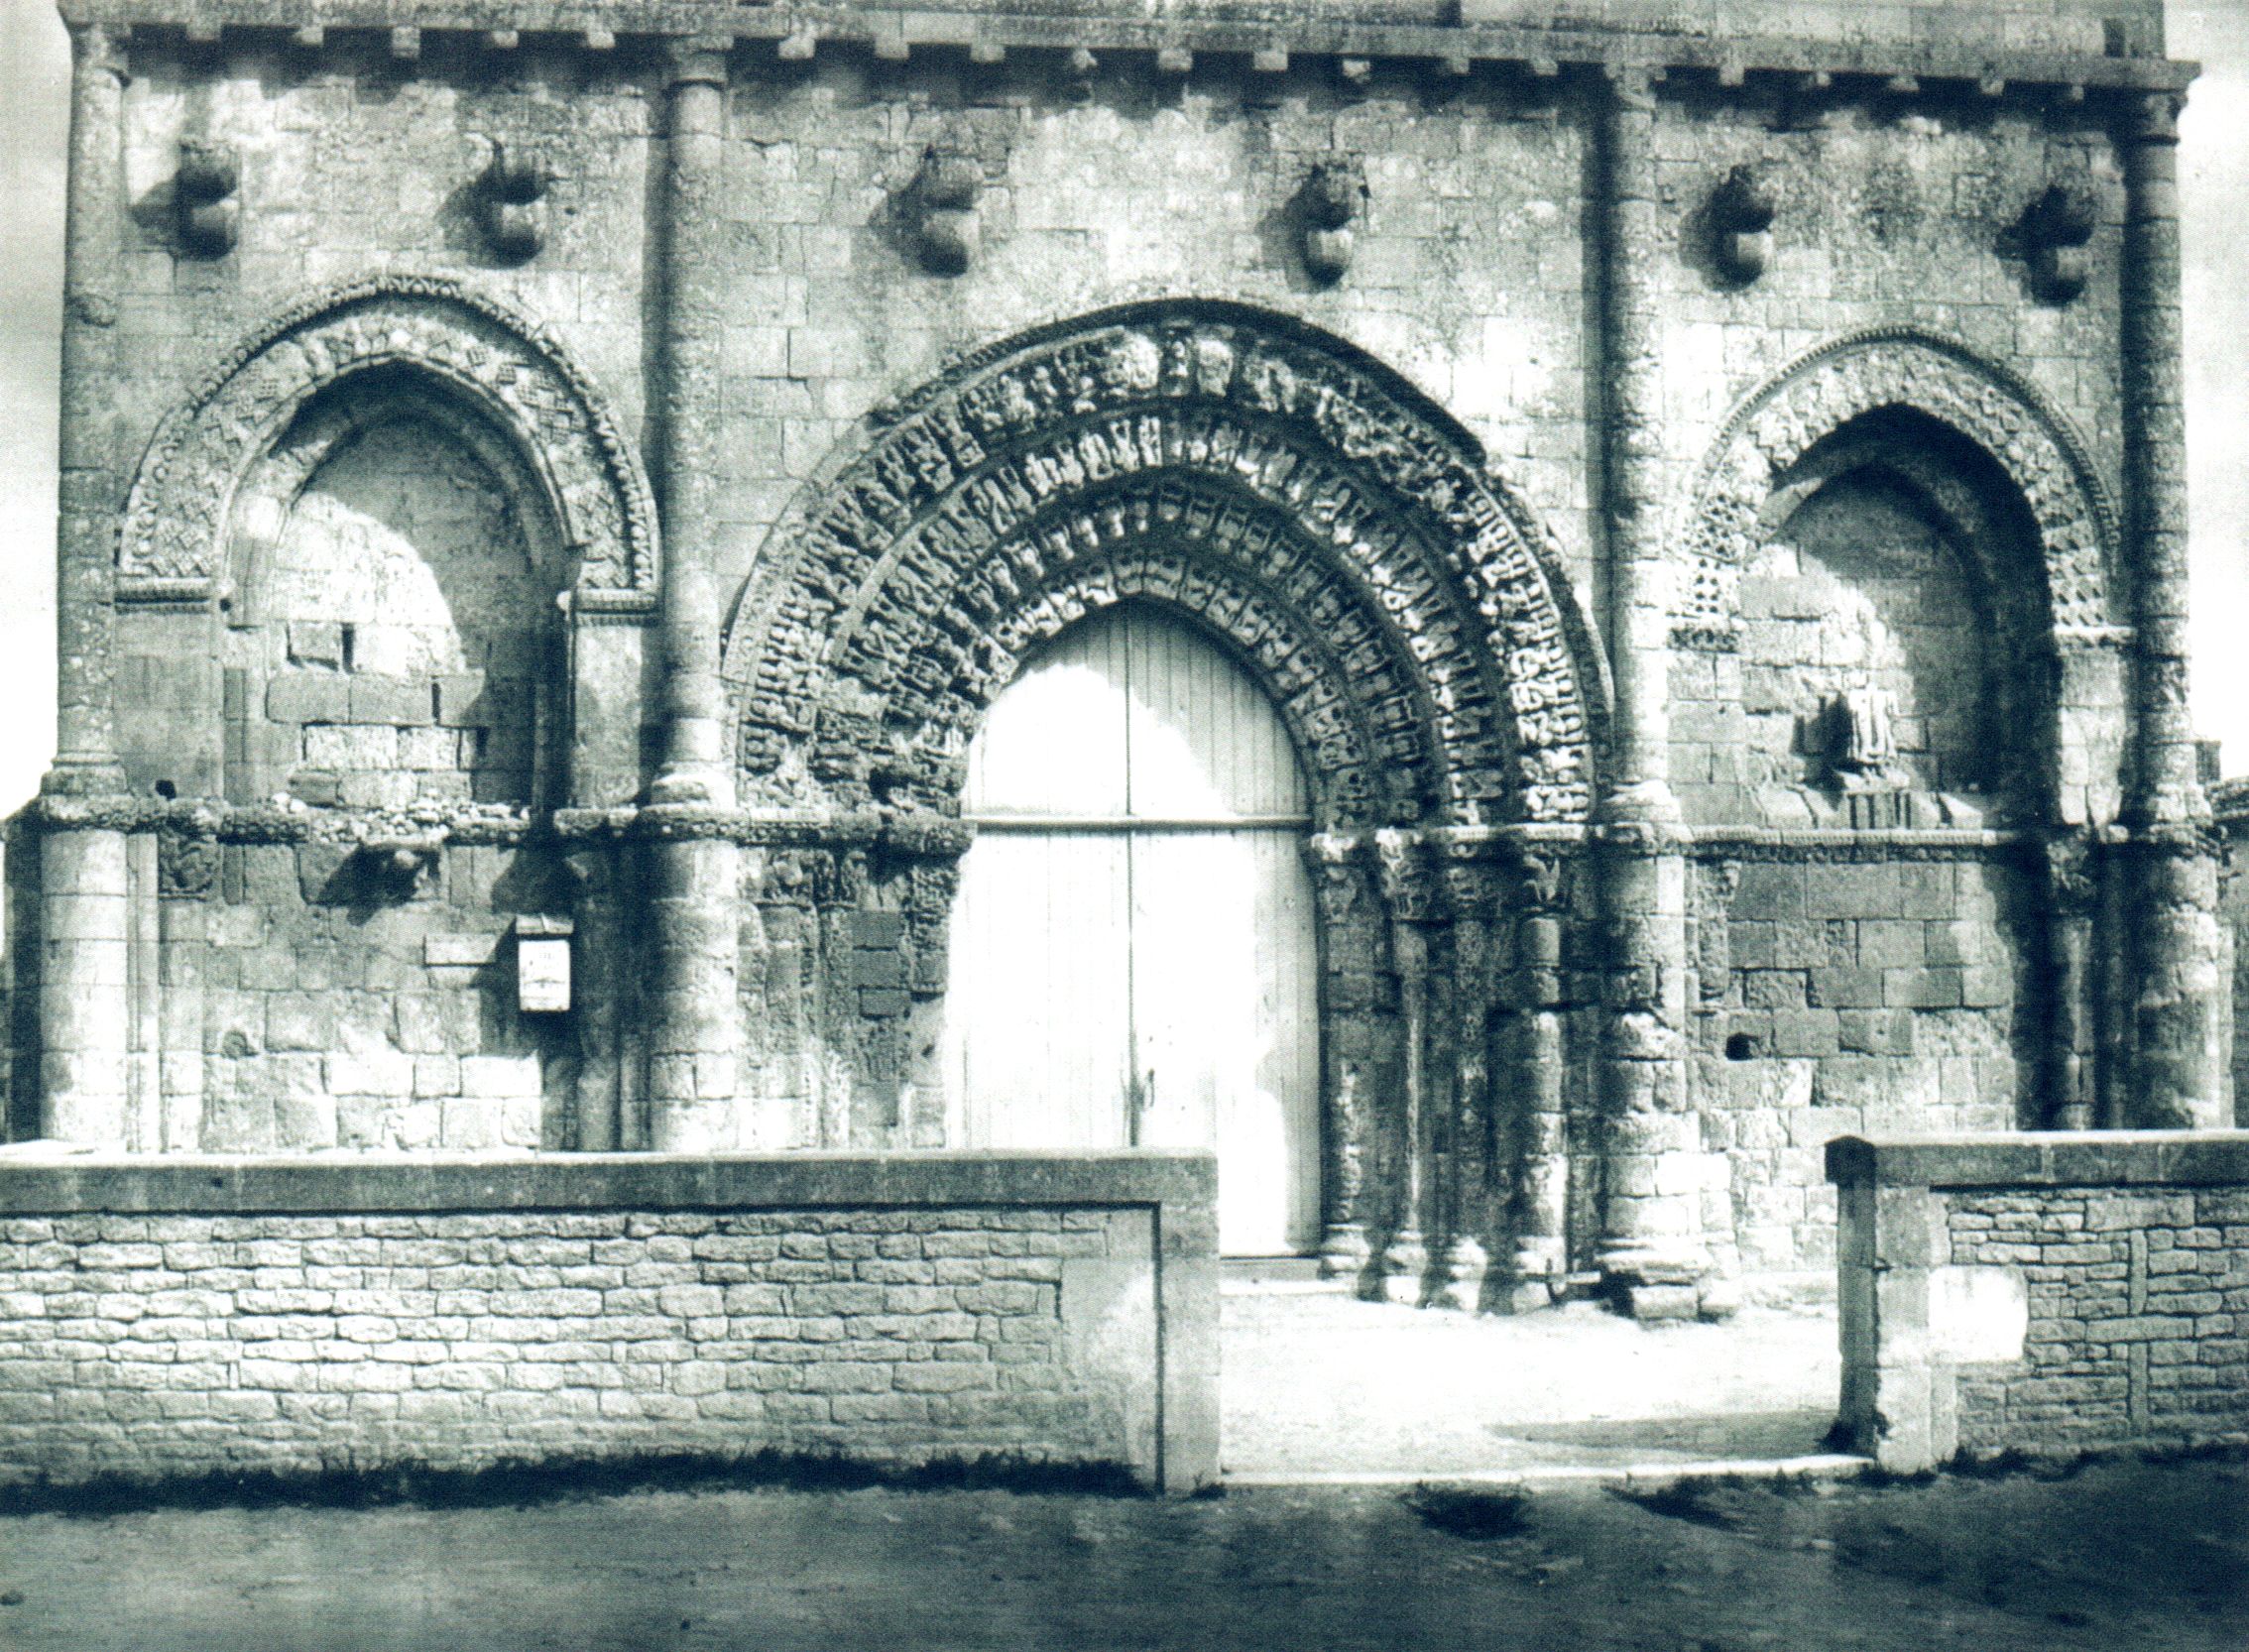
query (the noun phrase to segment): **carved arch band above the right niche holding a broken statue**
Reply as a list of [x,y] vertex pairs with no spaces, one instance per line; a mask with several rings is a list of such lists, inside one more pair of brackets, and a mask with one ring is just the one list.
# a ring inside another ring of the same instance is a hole
[[1729,647],[1736,582],[1763,537],[1772,488],[1813,445],[1864,414],[1923,414],[1981,447],[2038,526],[2058,634],[2125,623],[2116,512],[2069,423],[2020,375],[1954,339],[1909,328],[1822,344],[1759,384],[1725,423],[1691,494],[1691,571],[1673,641]]

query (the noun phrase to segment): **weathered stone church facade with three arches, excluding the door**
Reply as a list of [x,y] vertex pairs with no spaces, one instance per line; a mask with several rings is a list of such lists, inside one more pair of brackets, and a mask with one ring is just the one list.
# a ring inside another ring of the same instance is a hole
[[992,1146],[969,757],[1111,611],[1286,730],[1370,1292],[2231,1122],[2157,4],[65,16],[16,1140]]

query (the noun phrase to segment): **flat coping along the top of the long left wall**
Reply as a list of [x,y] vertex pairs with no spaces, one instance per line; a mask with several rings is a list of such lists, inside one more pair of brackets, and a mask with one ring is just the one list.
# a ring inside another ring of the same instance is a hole
[[[1210,1207],[1212,1153],[0,1153],[0,1216],[76,1211],[850,1209],[960,1205]],[[1167,1220],[1165,1232],[1174,1225]]]

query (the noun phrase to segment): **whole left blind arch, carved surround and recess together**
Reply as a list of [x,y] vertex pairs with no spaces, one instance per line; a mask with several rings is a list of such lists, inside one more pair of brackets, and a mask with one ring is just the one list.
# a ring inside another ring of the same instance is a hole
[[[306,584],[324,533],[333,596],[367,618],[281,611],[335,607]],[[416,535],[434,562],[409,555]],[[387,778],[335,789],[313,778],[301,800],[625,802],[645,780],[652,650],[639,632],[657,587],[639,459],[560,339],[450,276],[317,292],[220,357],[157,425],[135,474],[117,553],[119,654],[148,715],[126,730],[128,778],[265,802],[297,769],[335,773],[308,769],[304,735],[283,726],[376,726],[380,710],[423,733],[394,735],[389,762],[380,735],[324,737],[322,755],[360,744],[346,771]],[[418,618],[394,623],[400,611]],[[268,620],[279,632],[268,636]],[[288,654],[292,620],[308,656]],[[353,625],[349,665],[324,623]],[[252,681],[256,670],[272,681]],[[299,683],[274,701],[277,719],[268,697],[290,670],[367,677],[362,710],[355,683],[342,706],[335,683]],[[544,704],[533,681],[549,681]],[[468,755],[423,766],[439,757],[439,728]],[[445,769],[443,784],[403,778]]]

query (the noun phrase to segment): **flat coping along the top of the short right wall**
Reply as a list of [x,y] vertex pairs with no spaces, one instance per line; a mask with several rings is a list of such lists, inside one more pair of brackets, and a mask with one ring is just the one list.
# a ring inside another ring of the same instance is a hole
[[1840,1135],[1840,1187],[2218,1187],[2249,1182],[2249,1131]]

